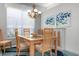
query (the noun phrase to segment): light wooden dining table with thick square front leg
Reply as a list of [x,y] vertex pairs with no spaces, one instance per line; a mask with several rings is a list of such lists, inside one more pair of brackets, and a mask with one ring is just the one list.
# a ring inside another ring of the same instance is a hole
[[18,35],[18,37],[23,38],[26,44],[29,45],[29,54],[30,56],[34,56],[35,53],[35,45],[41,44],[43,42],[42,37],[25,37],[24,35]]

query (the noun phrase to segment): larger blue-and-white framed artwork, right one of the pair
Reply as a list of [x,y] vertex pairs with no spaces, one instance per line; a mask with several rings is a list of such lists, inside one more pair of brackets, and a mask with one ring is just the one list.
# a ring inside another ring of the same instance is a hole
[[56,27],[64,28],[71,25],[71,13],[60,12],[56,15]]

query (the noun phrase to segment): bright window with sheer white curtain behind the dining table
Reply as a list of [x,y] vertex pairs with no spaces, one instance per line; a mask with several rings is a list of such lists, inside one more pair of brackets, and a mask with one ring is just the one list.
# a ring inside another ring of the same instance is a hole
[[23,28],[30,28],[34,31],[34,19],[21,9],[7,7],[7,37],[15,37],[15,28],[18,27],[19,34],[23,34]]

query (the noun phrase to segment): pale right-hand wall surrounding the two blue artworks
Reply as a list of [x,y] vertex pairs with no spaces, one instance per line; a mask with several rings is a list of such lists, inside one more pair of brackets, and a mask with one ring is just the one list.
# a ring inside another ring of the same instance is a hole
[[[61,47],[64,50],[68,50],[79,54],[79,4],[60,4],[54,8],[45,11],[42,15],[42,25],[44,28],[44,20],[51,15],[57,14],[61,11],[71,11],[71,27],[57,29],[61,31]],[[52,27],[52,26],[49,26]]]

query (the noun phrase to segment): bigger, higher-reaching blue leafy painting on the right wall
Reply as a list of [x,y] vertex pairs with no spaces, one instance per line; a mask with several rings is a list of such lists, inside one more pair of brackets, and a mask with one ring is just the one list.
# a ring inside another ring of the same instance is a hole
[[56,25],[58,26],[59,24],[65,25],[69,23],[71,17],[70,12],[60,12],[59,14],[56,15]]

